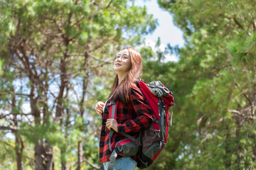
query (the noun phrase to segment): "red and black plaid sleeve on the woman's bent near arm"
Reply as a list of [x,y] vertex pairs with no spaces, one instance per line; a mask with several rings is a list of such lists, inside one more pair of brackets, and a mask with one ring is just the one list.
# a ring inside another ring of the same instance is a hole
[[132,109],[134,114],[137,114],[137,117],[118,124],[118,132],[139,132],[143,128],[148,128],[154,120],[153,112],[146,98],[142,95],[142,91],[136,85],[132,85],[129,102],[132,103]]

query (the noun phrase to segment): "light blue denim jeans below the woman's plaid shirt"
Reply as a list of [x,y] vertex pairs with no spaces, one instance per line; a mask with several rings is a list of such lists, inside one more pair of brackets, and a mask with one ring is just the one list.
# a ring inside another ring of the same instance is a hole
[[[104,169],[107,170],[110,162],[104,162]],[[113,170],[134,170],[136,169],[137,162],[131,157],[122,157],[116,160]]]

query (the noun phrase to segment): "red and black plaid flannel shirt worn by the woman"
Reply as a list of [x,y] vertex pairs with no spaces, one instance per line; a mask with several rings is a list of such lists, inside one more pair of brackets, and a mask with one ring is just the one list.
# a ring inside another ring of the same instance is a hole
[[[100,133],[100,164],[110,161],[111,151],[108,144],[110,130],[108,130],[106,127],[108,117],[109,112],[106,107],[104,113],[102,113],[102,129]],[[146,101],[146,98],[144,95],[142,95],[142,91],[137,87],[137,85],[132,83],[131,92],[129,93],[129,103],[124,105],[122,102],[119,102],[117,106],[118,133],[114,131],[112,135],[112,150],[119,140],[126,138],[120,133],[125,132],[132,136],[139,135],[139,131],[143,128],[148,128],[149,125],[153,123],[153,120],[153,113],[149,103]],[[117,159],[118,158],[119,157],[117,157]],[[134,160],[137,159],[136,156],[132,158]]]

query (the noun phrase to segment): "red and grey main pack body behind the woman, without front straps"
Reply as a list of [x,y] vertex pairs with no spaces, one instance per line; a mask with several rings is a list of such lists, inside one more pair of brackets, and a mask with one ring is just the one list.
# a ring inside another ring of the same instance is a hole
[[[169,107],[174,105],[174,97],[160,81],[145,84],[139,81],[142,94],[146,97],[154,113],[154,123],[139,134],[139,162],[137,166],[144,169],[150,166],[166,144],[169,130]],[[172,122],[172,112],[171,121]]]

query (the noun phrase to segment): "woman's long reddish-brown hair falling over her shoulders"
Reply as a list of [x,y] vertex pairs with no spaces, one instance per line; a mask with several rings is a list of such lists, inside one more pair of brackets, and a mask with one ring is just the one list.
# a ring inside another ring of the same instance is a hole
[[129,101],[129,92],[131,89],[132,81],[139,78],[139,75],[142,72],[142,56],[132,47],[126,47],[122,50],[127,49],[131,57],[132,67],[129,70],[127,77],[125,77],[120,84],[118,84],[118,76],[114,77],[114,82],[112,90],[110,92],[110,100],[112,101],[121,101],[122,103],[128,103]]

